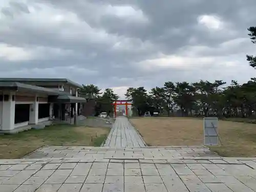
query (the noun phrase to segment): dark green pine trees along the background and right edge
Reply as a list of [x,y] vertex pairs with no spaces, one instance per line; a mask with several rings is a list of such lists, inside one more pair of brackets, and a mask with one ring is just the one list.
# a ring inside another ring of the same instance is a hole
[[[256,44],[256,27],[248,28],[253,44]],[[249,65],[256,68],[256,56],[246,55]],[[83,86],[80,96],[95,98],[97,112],[113,112],[113,101],[119,97],[112,89],[103,93],[93,84]],[[129,88],[125,97],[133,101],[133,114],[145,112],[180,116],[256,117],[256,78],[246,83],[232,80],[226,85],[223,80],[198,82],[167,81],[162,87],[147,91],[144,87]]]

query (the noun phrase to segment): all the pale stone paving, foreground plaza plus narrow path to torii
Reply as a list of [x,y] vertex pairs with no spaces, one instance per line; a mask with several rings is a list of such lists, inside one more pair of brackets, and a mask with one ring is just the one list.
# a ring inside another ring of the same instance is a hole
[[256,191],[256,158],[223,158],[203,146],[146,147],[135,134],[117,118],[102,147],[46,146],[23,159],[2,159],[0,191]]

